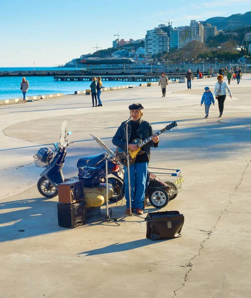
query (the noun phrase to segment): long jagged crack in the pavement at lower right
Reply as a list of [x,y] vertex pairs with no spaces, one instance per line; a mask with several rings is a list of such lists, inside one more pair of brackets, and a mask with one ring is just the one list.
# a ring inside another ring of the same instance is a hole
[[217,226],[217,224],[219,223],[220,219],[222,218],[223,214],[226,213],[226,212],[228,212],[227,209],[228,209],[229,205],[232,203],[232,202],[231,202],[231,199],[232,199],[232,197],[236,194],[236,192],[237,192],[239,186],[241,185],[241,183],[242,183],[242,181],[243,181],[243,178],[244,178],[244,175],[245,175],[245,172],[247,171],[248,167],[250,166],[250,162],[251,162],[251,160],[248,162],[247,166],[245,167],[245,169],[244,169],[244,171],[243,171],[243,173],[242,173],[241,180],[240,180],[239,184],[236,185],[235,190],[233,191],[232,194],[230,194],[229,201],[228,201],[228,203],[227,203],[226,208],[225,208],[223,211],[221,211],[221,215],[219,216],[219,218],[218,218],[216,224],[211,228],[211,230],[209,230],[209,231],[207,232],[207,237],[200,243],[200,248],[199,248],[199,250],[198,250],[198,253],[197,253],[196,255],[194,255],[194,256],[188,261],[188,263],[186,263],[186,266],[185,266],[185,267],[189,267],[189,270],[186,272],[186,274],[185,274],[185,276],[184,276],[184,282],[182,283],[181,287],[173,291],[173,292],[174,292],[174,295],[172,296],[172,298],[174,298],[175,296],[177,296],[176,293],[177,293],[179,290],[181,290],[182,288],[184,288],[185,285],[186,285],[186,282],[188,282],[188,276],[189,276],[189,273],[192,271],[192,266],[193,266],[192,261],[193,261],[196,257],[198,257],[198,256],[200,255],[200,253],[201,253],[201,252],[200,252],[201,249],[204,248],[204,244],[205,244],[205,242],[206,242],[206,241],[210,238],[210,236],[212,235],[214,229],[216,228],[216,226]]

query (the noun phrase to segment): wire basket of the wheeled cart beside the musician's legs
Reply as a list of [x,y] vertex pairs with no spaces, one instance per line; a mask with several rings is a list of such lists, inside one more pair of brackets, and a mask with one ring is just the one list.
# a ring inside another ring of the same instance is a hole
[[162,188],[169,196],[169,200],[174,199],[182,189],[184,177],[177,169],[148,168],[149,181],[148,193],[154,188]]

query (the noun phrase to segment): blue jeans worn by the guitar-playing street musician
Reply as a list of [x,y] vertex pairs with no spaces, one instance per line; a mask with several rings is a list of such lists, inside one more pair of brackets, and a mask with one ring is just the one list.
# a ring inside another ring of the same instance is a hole
[[[148,162],[133,163],[130,166],[131,208],[143,208]],[[127,167],[125,167],[125,200],[129,208]]]

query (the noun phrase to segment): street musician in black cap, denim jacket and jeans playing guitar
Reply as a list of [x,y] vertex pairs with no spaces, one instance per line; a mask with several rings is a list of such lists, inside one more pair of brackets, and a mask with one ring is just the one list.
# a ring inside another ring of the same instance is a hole
[[[145,187],[147,180],[147,168],[150,160],[150,147],[158,147],[158,136],[153,134],[152,127],[149,122],[142,119],[143,106],[140,103],[133,103],[129,105],[131,120],[128,122],[128,149],[135,151],[138,149],[137,145],[133,145],[132,141],[136,138],[145,140],[151,137],[151,141],[146,143],[141,150],[142,154],[136,155],[136,159],[129,167],[130,169],[130,186],[131,186],[131,210],[135,208],[137,215],[143,214],[143,203],[145,198]],[[120,149],[127,151],[125,138],[125,122],[117,130],[113,137],[113,144]],[[128,175],[127,168],[125,169],[125,200],[126,200],[126,214],[130,213],[129,208],[129,190],[128,190]]]

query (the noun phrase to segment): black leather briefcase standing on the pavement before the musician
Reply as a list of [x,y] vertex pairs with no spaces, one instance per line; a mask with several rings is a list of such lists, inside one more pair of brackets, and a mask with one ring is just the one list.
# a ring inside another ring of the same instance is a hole
[[184,215],[178,211],[148,213],[146,218],[146,238],[162,240],[181,237]]

